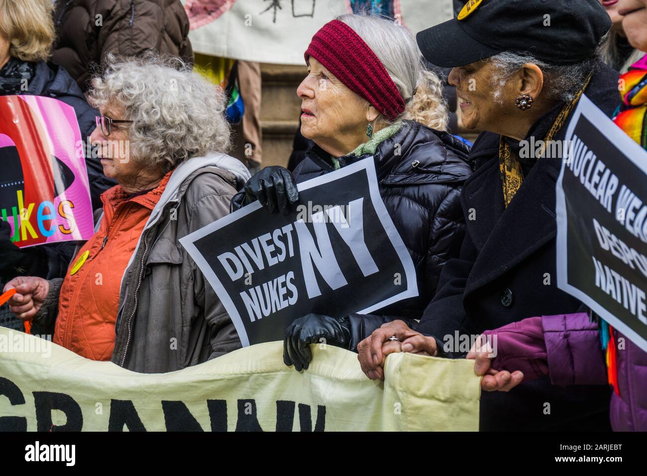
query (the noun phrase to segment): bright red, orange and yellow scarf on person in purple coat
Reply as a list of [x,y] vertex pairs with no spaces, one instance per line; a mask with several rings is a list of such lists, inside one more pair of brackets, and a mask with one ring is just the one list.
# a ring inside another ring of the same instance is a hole
[[[647,149],[647,56],[633,63],[629,71],[620,75],[620,99],[622,102],[616,109],[613,122],[627,133],[631,139]],[[613,391],[620,396],[618,385],[618,368],[616,362],[616,339],[611,327],[603,319],[600,323],[600,339],[602,348],[606,350],[608,381],[613,385]]]

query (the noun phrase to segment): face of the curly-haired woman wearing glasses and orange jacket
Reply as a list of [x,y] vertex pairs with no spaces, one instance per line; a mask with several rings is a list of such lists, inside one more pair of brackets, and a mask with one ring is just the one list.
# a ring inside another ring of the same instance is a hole
[[[105,108],[101,113],[111,119],[126,119],[118,108]],[[93,153],[100,157],[105,176],[118,183],[129,183],[142,171],[130,157],[129,125],[113,124],[108,136],[104,135],[101,126],[97,126],[90,135]]]

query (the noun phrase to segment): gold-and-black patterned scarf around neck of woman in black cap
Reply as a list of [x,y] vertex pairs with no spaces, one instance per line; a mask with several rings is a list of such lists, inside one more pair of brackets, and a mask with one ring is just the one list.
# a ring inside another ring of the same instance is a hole
[[[570,102],[567,102],[564,105],[564,108],[562,108],[560,113],[557,115],[553,125],[546,134],[546,137],[543,139],[542,149],[540,150],[539,157],[537,157],[537,159],[540,159],[543,156],[546,149],[546,143],[548,141],[552,141],[554,135],[562,128],[562,126],[564,126],[564,123],[571,114],[571,111],[575,109],[575,105],[580,100],[580,96],[584,93],[584,89],[589,85],[591,76],[593,76],[593,73],[589,73],[584,84],[582,84],[582,87],[577,91],[575,98]],[[508,205],[510,205],[512,198],[514,198],[521,187],[521,183],[523,182],[523,169],[521,169],[521,163],[518,157],[516,154],[512,153],[510,146],[503,136],[501,136],[501,141],[499,142],[499,172],[501,172],[501,185],[503,186],[503,203],[505,203],[505,207],[507,208]]]

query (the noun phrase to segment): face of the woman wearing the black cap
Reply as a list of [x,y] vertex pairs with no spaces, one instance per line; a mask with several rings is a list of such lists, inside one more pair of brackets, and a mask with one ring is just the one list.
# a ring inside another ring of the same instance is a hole
[[492,130],[506,114],[514,112],[516,95],[509,84],[494,84],[494,66],[477,61],[452,69],[448,81],[456,87],[461,120],[468,129]]

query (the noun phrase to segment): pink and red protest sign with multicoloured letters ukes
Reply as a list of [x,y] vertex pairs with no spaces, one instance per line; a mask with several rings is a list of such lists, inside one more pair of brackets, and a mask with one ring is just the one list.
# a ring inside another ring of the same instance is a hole
[[0,210],[19,247],[93,235],[76,114],[58,99],[0,96]]

